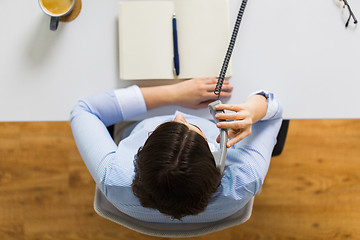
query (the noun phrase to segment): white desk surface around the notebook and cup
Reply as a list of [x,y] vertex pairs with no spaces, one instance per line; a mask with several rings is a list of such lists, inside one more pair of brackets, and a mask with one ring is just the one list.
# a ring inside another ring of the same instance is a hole
[[[36,0],[1,1],[0,121],[63,121],[79,98],[131,84],[118,64],[119,0],[83,1],[73,22],[49,30]],[[230,0],[231,22],[240,0]],[[350,1],[360,18],[360,2]],[[233,53],[234,96],[276,92],[284,117],[360,118],[360,31],[338,0],[249,0]],[[162,108],[148,115],[166,114]],[[208,116],[207,110],[187,111]]]

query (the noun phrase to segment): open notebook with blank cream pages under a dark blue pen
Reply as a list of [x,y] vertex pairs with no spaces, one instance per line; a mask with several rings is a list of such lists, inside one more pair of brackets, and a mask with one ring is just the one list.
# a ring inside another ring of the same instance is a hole
[[[228,0],[119,4],[120,79],[218,77],[230,40]],[[173,72],[173,13],[177,18],[179,76]]]

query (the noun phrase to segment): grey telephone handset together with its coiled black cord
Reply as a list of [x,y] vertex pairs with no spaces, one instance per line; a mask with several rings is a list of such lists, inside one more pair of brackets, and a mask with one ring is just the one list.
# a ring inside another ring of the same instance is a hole
[[[219,100],[220,98],[220,93],[221,93],[221,88],[223,85],[223,82],[225,80],[225,74],[226,74],[226,70],[227,67],[229,65],[229,61],[231,58],[231,54],[232,51],[234,49],[234,45],[235,45],[235,41],[236,41],[236,37],[237,34],[239,32],[239,27],[240,27],[240,23],[241,23],[241,19],[242,16],[244,14],[244,10],[246,7],[246,3],[247,0],[243,0],[240,6],[240,10],[238,13],[238,16],[236,18],[236,22],[235,22],[235,26],[234,26],[234,30],[233,33],[231,35],[231,39],[230,39],[230,44],[228,47],[228,50],[226,52],[226,56],[219,74],[219,79],[218,82],[216,84],[215,90],[214,90],[214,94],[218,96],[218,100],[216,100],[215,102],[212,102],[209,104],[209,110],[210,113],[213,115],[214,119],[215,119],[215,114],[218,112],[224,112],[223,110],[219,111],[215,109],[215,106],[218,104],[221,104],[221,101]],[[218,119],[215,119],[215,121],[219,121]],[[220,121],[225,121],[225,120],[220,120]],[[220,173],[223,173],[224,168],[225,168],[225,160],[226,160],[226,152],[227,152],[227,148],[226,148],[226,143],[228,141],[228,133],[227,133],[227,129],[223,129],[221,128],[220,130],[220,150],[213,152],[213,156],[215,158],[215,163],[216,163],[216,167],[220,170]]]

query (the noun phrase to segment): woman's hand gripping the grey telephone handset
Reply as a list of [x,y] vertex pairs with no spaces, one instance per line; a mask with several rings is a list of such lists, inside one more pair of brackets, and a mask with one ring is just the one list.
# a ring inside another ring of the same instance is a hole
[[[253,95],[243,104],[219,104],[215,106],[216,110],[230,110],[228,113],[218,113],[216,119],[232,120],[229,122],[222,121],[216,124],[218,128],[228,128],[227,147],[233,146],[251,134],[251,126],[262,119],[267,110],[267,100],[262,95]],[[220,135],[216,139],[220,142]]]

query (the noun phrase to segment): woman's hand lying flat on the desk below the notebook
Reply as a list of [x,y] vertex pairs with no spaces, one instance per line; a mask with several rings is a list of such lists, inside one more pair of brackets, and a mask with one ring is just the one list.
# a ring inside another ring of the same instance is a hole
[[[173,103],[187,108],[203,108],[215,101],[214,94],[217,78],[193,78],[170,85],[173,94]],[[225,80],[222,86],[221,98],[231,97],[233,86]]]

